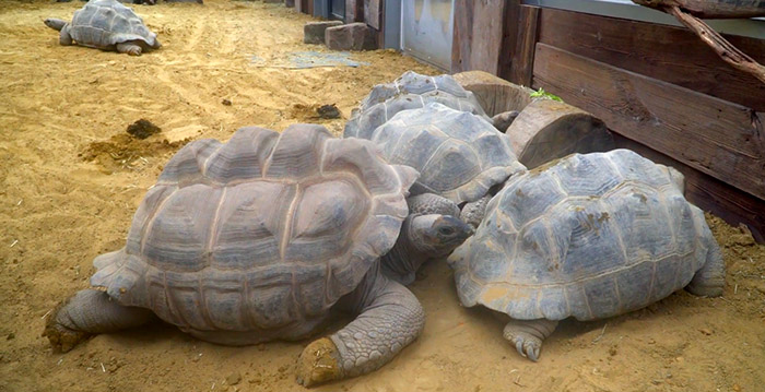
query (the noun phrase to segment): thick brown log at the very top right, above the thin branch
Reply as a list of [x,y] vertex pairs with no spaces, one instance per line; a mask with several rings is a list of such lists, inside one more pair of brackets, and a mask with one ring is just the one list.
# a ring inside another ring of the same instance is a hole
[[765,16],[764,0],[632,0],[636,4],[663,11],[676,7],[703,19]]

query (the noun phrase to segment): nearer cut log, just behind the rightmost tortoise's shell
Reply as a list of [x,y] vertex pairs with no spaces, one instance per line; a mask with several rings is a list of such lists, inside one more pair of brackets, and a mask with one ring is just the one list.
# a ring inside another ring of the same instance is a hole
[[614,149],[613,138],[603,121],[551,99],[529,104],[506,133],[518,161],[529,169],[573,153]]

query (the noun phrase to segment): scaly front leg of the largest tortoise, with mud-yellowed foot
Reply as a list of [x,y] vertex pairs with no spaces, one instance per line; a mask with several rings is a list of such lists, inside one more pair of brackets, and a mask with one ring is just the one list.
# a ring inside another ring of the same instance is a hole
[[375,274],[372,289],[352,294],[356,307],[362,308],[361,314],[329,338],[314,341],[303,351],[297,382],[311,387],[368,373],[389,363],[420,335],[425,324],[420,301],[401,284]]

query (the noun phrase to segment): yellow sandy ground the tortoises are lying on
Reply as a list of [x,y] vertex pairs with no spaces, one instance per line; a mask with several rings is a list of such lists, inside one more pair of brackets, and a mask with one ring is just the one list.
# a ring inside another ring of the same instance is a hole
[[[61,47],[45,17],[80,2],[0,2],[0,391],[299,391],[301,343],[223,347],[153,324],[99,335],[70,353],[40,332],[49,310],[87,286],[91,262],[120,248],[130,218],[184,140],[227,140],[238,127],[276,130],[337,104],[341,130],[380,82],[435,70],[390,51],[354,54],[361,68],[291,70],[310,19],[281,5],[208,0],[136,5],[164,47],[128,57]],[[252,56],[260,59],[251,62]],[[225,105],[227,99],[231,105]],[[145,118],[163,133],[136,141]],[[457,302],[445,264],[412,289],[425,331],[382,369],[319,391],[763,391],[765,249],[710,217],[729,269],[726,295],[679,292],[599,322],[564,322],[532,364],[502,323]]]

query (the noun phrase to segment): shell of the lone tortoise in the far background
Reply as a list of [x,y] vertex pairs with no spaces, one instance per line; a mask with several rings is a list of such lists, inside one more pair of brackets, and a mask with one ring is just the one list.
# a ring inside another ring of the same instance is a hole
[[156,34],[149,31],[141,16],[116,0],[91,0],[74,11],[69,34],[78,45],[102,49],[137,39],[157,46]]

